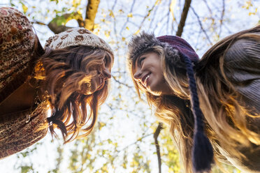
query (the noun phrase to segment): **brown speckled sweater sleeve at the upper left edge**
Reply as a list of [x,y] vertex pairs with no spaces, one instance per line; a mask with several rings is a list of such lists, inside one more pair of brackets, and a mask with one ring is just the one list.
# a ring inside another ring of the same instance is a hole
[[0,103],[27,79],[35,40],[23,13],[0,7]]

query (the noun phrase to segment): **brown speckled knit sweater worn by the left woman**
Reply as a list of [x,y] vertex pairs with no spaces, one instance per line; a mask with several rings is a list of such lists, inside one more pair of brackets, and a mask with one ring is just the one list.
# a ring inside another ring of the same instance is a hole
[[[35,33],[31,23],[14,8],[0,8],[0,104],[27,80],[34,61]],[[22,151],[43,138],[48,128],[45,102],[11,114],[0,112],[0,159]]]

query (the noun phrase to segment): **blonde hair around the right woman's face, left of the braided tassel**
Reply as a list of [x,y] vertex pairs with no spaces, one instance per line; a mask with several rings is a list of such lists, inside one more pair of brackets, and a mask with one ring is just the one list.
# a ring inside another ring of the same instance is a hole
[[[149,51],[156,52],[161,59],[161,65],[164,69],[164,77],[169,87],[176,93],[176,96],[154,96],[152,93],[146,91],[141,84],[134,80],[135,67],[129,65],[129,71],[133,84],[136,88],[138,96],[140,98],[140,91],[143,91],[147,96],[147,103],[152,106],[154,105],[155,116],[159,120],[163,121],[170,128],[170,133],[173,137],[175,144],[178,146],[180,152],[181,161],[185,167],[187,173],[189,168],[192,168],[192,145],[193,145],[193,128],[194,128],[194,116],[191,110],[191,104],[189,102],[189,85],[186,77],[185,64],[182,61],[178,62],[175,69],[166,66],[164,63],[164,49],[161,46],[155,45],[150,48]],[[139,56],[141,56],[140,54]],[[131,64],[135,64],[133,61]],[[167,71],[168,73],[166,75]],[[174,75],[173,75],[173,74]],[[171,75],[182,76],[182,79],[177,77],[171,77]],[[168,80],[170,79],[170,80]],[[190,158],[190,159],[187,159]],[[192,172],[192,170],[190,170]]]

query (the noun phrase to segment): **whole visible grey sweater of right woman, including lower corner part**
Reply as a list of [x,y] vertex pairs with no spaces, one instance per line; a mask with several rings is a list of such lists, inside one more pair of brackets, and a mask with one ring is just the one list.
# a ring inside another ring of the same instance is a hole
[[[226,77],[242,95],[238,101],[252,112],[260,114],[260,40],[236,41],[226,52],[224,63],[227,66],[224,69]],[[258,129],[254,131],[260,133],[260,119],[249,119],[248,123],[257,126]],[[220,149],[226,159],[238,169],[247,173],[260,172],[260,146],[251,144],[250,147],[238,150],[246,158],[238,160]]]

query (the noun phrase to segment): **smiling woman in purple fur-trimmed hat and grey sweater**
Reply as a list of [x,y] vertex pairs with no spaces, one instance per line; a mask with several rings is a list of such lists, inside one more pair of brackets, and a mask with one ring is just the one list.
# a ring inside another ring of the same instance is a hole
[[260,172],[260,26],[213,45],[201,59],[178,36],[141,32],[128,66],[140,96],[169,126],[185,172],[226,163]]

